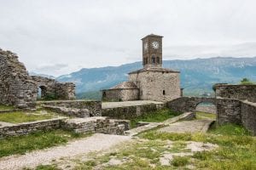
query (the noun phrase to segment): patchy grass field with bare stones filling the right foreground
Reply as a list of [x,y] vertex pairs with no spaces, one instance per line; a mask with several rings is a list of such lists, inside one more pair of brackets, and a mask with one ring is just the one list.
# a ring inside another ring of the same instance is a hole
[[[236,133],[233,130],[236,129]],[[159,133],[157,130],[141,133],[136,142],[125,144],[118,151],[104,156],[91,156],[89,161],[79,161],[75,169],[256,169],[256,139],[244,127],[225,125],[212,127],[208,133]],[[191,153],[186,148],[189,141],[218,144],[214,150],[196,151],[188,156],[174,156],[169,166],[160,164],[160,157],[168,153]],[[171,142],[172,147],[169,147]],[[112,159],[122,161],[108,165]],[[101,167],[102,166],[102,167]],[[56,165],[54,167],[57,168]]]

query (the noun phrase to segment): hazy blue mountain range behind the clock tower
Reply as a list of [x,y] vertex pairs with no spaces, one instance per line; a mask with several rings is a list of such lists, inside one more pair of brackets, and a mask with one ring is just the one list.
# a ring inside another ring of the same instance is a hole
[[[256,81],[256,57],[189,60],[165,60],[165,68],[181,71],[181,86],[185,94],[212,92],[212,85],[218,82],[237,83],[247,77]],[[90,94],[103,88],[110,88],[127,80],[128,72],[142,68],[142,62],[120,66],[82,69],[68,75],[57,77],[60,82],[74,82],[77,93]],[[97,93],[99,95],[99,93]],[[83,96],[83,95],[80,95]],[[85,95],[86,97],[86,95]]]

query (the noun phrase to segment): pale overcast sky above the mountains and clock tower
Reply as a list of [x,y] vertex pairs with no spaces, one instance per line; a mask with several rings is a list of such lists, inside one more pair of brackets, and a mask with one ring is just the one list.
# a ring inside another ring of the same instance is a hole
[[0,0],[0,48],[54,76],[142,58],[159,34],[164,59],[256,56],[255,0]]

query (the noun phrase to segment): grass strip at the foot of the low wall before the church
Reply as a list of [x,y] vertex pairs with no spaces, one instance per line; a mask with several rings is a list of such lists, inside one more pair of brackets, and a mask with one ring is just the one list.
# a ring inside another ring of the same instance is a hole
[[163,122],[178,115],[180,115],[180,113],[171,111],[169,109],[148,112],[142,116],[137,116],[135,119],[131,119],[131,127],[136,127],[137,122]]

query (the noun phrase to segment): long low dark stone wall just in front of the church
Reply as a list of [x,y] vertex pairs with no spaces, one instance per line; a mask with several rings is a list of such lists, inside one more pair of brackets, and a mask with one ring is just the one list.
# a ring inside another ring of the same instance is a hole
[[109,116],[114,119],[136,118],[137,116],[147,114],[150,111],[157,111],[164,108],[165,104],[149,104],[149,105],[131,105],[115,108],[102,109],[102,116]]

